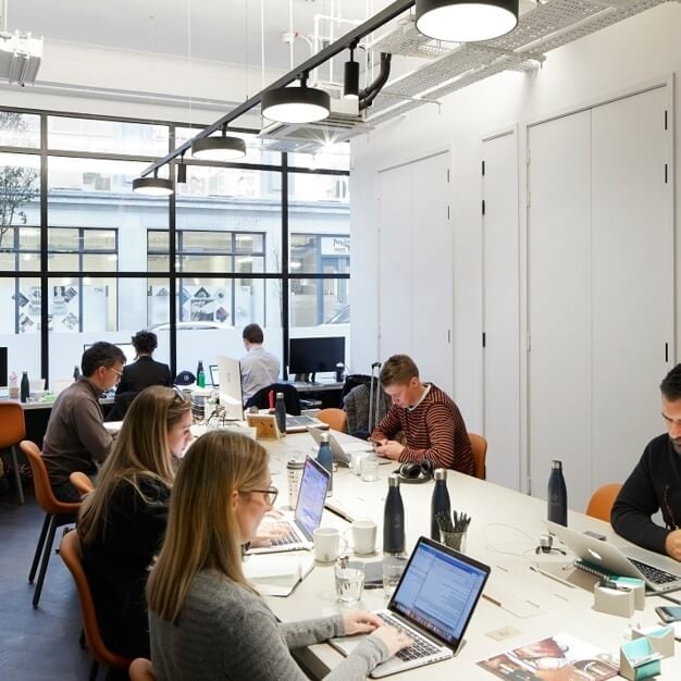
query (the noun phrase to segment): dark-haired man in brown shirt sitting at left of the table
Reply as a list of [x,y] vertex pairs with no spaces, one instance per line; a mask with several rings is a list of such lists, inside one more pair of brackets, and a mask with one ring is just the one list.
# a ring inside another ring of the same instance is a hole
[[97,472],[109,454],[112,437],[103,426],[99,398],[121,380],[125,355],[111,343],[95,343],[81,360],[82,375],[54,401],[42,439],[42,459],[54,496],[61,502],[79,502],[69,475]]

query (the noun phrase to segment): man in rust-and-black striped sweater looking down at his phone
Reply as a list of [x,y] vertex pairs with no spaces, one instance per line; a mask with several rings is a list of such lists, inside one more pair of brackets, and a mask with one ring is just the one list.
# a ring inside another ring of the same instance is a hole
[[[472,475],[471,443],[454,400],[432,383],[421,383],[419,368],[407,355],[393,355],[379,381],[393,406],[371,434],[376,454],[395,461],[430,459],[435,468]],[[399,430],[406,445],[391,439]]]

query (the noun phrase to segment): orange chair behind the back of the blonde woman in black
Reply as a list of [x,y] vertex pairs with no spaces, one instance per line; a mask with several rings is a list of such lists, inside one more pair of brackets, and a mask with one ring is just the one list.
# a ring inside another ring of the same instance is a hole
[[131,661],[127,657],[112,653],[102,641],[97,623],[97,612],[95,612],[95,602],[92,600],[92,592],[87,581],[87,575],[83,569],[83,552],[81,549],[81,538],[78,533],[73,530],[62,537],[59,545],[59,555],[66,564],[73,580],[76,583],[78,592],[78,600],[81,602],[81,617],[83,618],[83,632],[85,633],[85,642],[87,648],[92,656],[92,666],[90,667],[90,679],[97,678],[99,665],[107,665],[113,669],[127,669]]

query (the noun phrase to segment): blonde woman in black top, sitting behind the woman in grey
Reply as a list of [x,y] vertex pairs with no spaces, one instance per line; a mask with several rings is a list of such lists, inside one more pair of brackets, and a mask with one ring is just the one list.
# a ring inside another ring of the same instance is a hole
[[99,628],[124,657],[149,656],[145,584],[190,425],[191,403],[182,393],[161,386],[139,393],[81,507],[77,531]]

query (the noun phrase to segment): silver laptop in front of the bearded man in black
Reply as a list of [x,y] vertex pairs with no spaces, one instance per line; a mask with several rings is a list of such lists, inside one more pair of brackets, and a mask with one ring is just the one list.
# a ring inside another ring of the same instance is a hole
[[681,589],[681,566],[637,546],[621,548],[607,541],[547,522],[555,534],[577,557],[575,567],[595,574],[637,577],[646,589],[657,593]]

